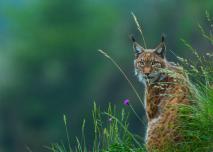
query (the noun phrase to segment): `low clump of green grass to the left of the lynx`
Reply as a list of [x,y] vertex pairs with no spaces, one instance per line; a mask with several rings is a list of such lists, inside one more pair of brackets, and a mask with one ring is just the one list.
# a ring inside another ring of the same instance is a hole
[[64,125],[67,134],[67,148],[64,143],[52,144],[46,148],[52,152],[143,152],[145,150],[141,144],[142,138],[128,130],[128,115],[123,109],[118,112],[116,107],[111,104],[109,104],[107,111],[101,112],[100,107],[94,103],[92,112],[94,142],[92,149],[87,149],[86,146],[85,121],[82,124],[82,139],[76,138],[76,146],[71,148],[66,116],[64,116]]

